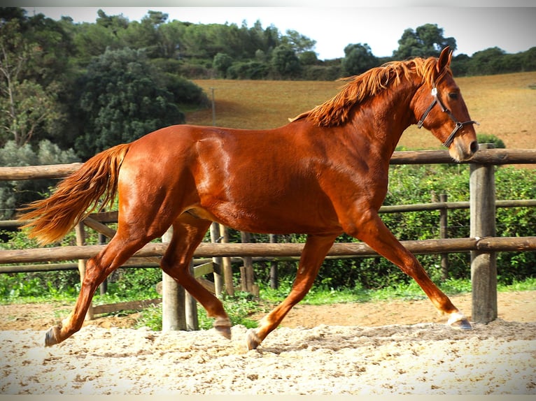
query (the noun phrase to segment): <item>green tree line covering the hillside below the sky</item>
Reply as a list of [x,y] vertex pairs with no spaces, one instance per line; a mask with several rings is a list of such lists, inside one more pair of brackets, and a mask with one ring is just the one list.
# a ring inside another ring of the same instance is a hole
[[[402,33],[393,57],[350,43],[344,57],[320,60],[315,45],[297,31],[281,34],[260,21],[252,27],[192,24],[154,10],[129,21],[99,10],[96,22],[74,23],[0,8],[0,165],[83,161],[183,124],[184,110],[209,105],[195,78],[335,80],[393,59],[437,56],[445,45],[456,49],[456,39],[425,24]],[[533,71],[536,48],[460,54],[453,69],[456,75]],[[0,183],[0,214],[48,184]]]

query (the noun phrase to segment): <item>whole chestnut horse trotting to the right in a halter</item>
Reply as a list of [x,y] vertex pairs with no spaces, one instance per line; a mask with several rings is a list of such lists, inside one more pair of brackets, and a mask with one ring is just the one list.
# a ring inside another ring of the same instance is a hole
[[190,275],[190,260],[213,221],[252,233],[306,235],[288,296],[248,331],[256,349],[311,289],[342,233],[367,243],[411,276],[453,328],[471,324],[379,218],[389,159],[404,129],[418,124],[466,161],[479,149],[474,124],[450,68],[452,52],[392,61],[344,79],[325,103],[275,129],[175,125],[104,150],[59,182],[52,196],[22,207],[29,236],[61,239],[94,207],[118,196],[118,228],[87,261],[73,311],[45,345],[83,326],[94,291],[147,242],[171,226],[160,267],[181,284],[230,339],[222,302]]

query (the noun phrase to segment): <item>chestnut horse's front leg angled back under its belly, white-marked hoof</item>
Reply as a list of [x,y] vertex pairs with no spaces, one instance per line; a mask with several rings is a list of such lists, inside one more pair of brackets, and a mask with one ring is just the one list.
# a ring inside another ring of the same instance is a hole
[[337,238],[336,235],[309,235],[299,259],[296,279],[287,298],[265,316],[259,327],[248,332],[248,349],[256,349],[262,340],[274,330],[290,309],[306,296],[311,289],[320,265]]

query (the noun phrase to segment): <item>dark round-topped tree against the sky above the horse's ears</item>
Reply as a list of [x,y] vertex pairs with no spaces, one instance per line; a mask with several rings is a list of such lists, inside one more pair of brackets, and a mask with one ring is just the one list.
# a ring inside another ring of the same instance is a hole
[[437,57],[446,46],[456,50],[456,39],[444,38],[443,29],[437,27],[437,24],[424,24],[415,30],[408,28],[404,31],[398,41],[398,49],[393,52],[393,58]]

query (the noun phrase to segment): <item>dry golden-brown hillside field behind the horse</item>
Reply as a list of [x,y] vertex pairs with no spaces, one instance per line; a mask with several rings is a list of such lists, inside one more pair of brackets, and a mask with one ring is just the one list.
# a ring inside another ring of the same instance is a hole
[[[269,129],[310,110],[339,92],[342,82],[195,80],[206,94],[214,88],[216,125]],[[502,139],[512,149],[536,147],[536,72],[462,77],[456,82],[476,119],[477,133]],[[212,110],[186,115],[188,124],[212,125]],[[411,150],[437,149],[430,133],[410,126],[400,145]]]

